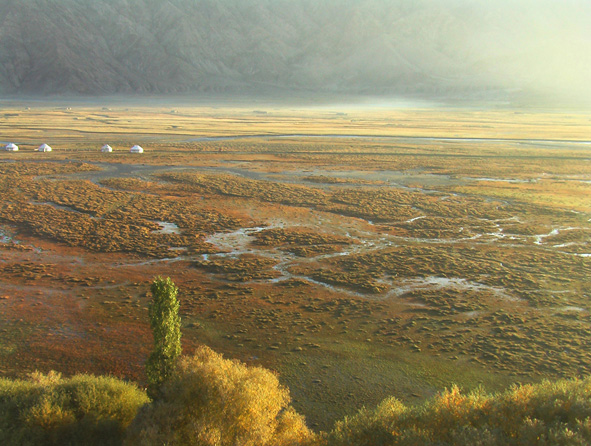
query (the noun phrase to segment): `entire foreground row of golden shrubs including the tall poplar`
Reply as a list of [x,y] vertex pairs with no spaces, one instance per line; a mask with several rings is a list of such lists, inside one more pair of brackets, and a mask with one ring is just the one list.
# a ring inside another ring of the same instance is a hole
[[2,445],[588,445],[591,379],[515,386],[504,393],[452,388],[417,406],[395,398],[315,433],[275,374],[208,347],[181,356],[177,288],[152,284],[154,349],[148,388],[111,377],[33,373],[0,379]]

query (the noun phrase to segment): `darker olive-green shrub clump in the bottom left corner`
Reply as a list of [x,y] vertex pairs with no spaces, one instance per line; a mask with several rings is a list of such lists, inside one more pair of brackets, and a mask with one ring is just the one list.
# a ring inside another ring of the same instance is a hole
[[0,379],[0,444],[119,445],[147,402],[135,385],[109,377]]

